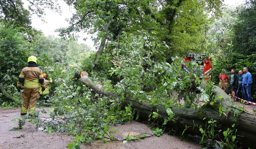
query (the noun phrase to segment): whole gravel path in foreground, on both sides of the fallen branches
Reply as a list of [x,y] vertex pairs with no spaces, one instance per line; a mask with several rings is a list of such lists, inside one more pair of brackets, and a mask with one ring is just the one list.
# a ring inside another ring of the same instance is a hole
[[[44,108],[48,111],[48,108]],[[26,124],[22,129],[17,131],[10,131],[12,128],[18,126],[18,122],[11,122],[11,119],[19,116],[20,109],[7,109],[0,110],[0,149],[65,149],[69,143],[72,143],[71,135],[66,133],[50,133],[45,131],[36,131],[35,126],[26,121]],[[41,115],[39,117],[45,117],[47,115]],[[129,132],[130,134],[141,134],[151,133],[152,131],[146,124],[131,121],[126,122],[125,125],[113,126],[119,130],[115,134],[118,138],[126,138]],[[14,138],[24,135],[21,138]],[[106,141],[103,144],[102,140],[93,142],[89,145],[82,144],[81,149],[131,149],[131,148],[142,148],[142,149],[200,149],[201,145],[197,141],[181,141],[177,136],[170,136],[166,133],[160,137],[150,137],[146,139],[130,141],[125,144],[116,141]]]

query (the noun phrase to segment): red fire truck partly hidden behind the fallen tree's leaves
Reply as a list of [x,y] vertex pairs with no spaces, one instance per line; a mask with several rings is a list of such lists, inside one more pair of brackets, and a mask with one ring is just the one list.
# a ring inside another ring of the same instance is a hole
[[[212,58],[208,57],[207,54],[195,54],[195,53],[189,53],[184,58],[184,64],[182,65],[182,69],[190,74],[189,68],[187,68],[188,63],[195,62],[198,65],[193,65],[192,68],[194,72],[197,72],[197,74],[200,76],[200,78],[204,78],[206,81],[212,77]],[[200,71],[198,71],[200,70]],[[200,73],[198,73],[200,72]]]

